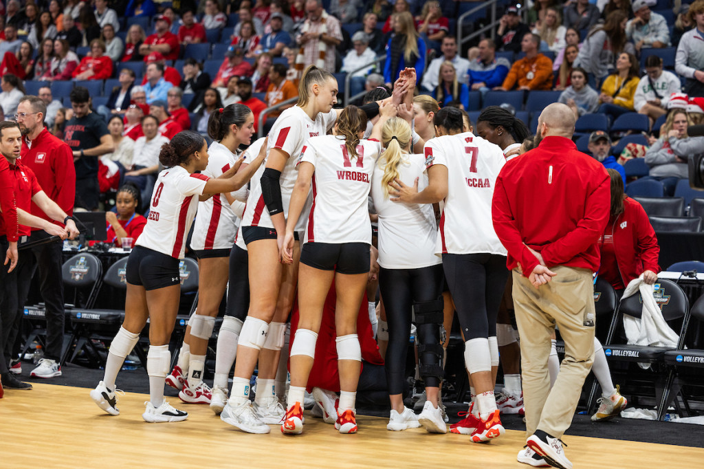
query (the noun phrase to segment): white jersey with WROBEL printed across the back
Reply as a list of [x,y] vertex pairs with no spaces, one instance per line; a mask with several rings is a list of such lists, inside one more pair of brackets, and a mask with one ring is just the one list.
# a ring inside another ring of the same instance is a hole
[[381,151],[379,142],[361,140],[355,158],[344,137],[334,135],[313,137],[303,146],[298,162],[315,166],[306,243],[372,243],[367,200]]

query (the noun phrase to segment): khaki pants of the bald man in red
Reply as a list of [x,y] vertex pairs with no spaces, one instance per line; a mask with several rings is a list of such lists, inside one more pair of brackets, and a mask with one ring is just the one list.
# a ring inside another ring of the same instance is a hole
[[[543,430],[555,438],[570,427],[594,359],[594,297],[589,270],[558,266],[557,275],[536,289],[513,271],[513,304],[520,334],[527,435]],[[591,313],[591,325],[585,326]],[[552,389],[548,375],[555,325],[565,341],[565,359]]]

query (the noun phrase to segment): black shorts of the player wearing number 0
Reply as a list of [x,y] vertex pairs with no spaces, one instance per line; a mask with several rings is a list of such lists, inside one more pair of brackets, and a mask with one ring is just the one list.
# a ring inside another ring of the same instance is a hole
[[137,246],[127,259],[125,280],[146,290],[171,287],[181,283],[179,263],[176,258]]

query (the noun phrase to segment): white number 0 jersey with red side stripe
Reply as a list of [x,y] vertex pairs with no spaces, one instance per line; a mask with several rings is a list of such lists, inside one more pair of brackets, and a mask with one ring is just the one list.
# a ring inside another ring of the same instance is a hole
[[182,259],[186,237],[210,177],[189,174],[182,166],[159,173],[151,194],[146,226],[136,246],[144,246],[173,258]]

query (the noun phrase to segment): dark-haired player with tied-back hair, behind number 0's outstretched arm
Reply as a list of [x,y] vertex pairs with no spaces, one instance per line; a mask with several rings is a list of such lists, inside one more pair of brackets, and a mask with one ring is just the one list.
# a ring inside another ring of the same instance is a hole
[[[234,166],[240,144],[249,145],[254,133],[254,115],[244,104],[230,104],[210,113],[208,167],[202,174],[220,177]],[[239,192],[246,192],[246,185]],[[224,202],[224,203],[223,203]],[[198,308],[188,322],[178,363],[166,384],[179,390],[179,398],[190,404],[210,404],[211,392],[203,382],[208,339],[227,286],[230,249],[237,234],[237,215],[232,194],[215,194],[198,206],[191,249],[198,256]]]

